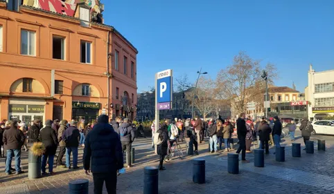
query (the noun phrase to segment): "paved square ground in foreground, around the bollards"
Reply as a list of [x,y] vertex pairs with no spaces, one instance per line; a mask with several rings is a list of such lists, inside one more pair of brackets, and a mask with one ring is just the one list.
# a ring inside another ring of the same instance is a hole
[[[293,158],[290,139],[284,138],[281,145],[285,146],[285,162],[276,162],[274,150],[271,150],[271,154],[265,156],[265,167],[256,168],[254,155],[249,153],[250,163],[240,162],[239,175],[227,173],[227,153],[211,154],[206,143],[200,144],[200,155],[165,164],[167,170],[159,172],[159,193],[334,193],[334,137],[317,135],[313,138],[326,139],[326,152],[317,151],[315,144],[314,154],[302,151],[300,158]],[[296,142],[304,148],[301,138]],[[136,163],[133,168],[127,168],[124,175],[118,176],[118,193],[143,193],[143,167],[158,165],[158,157],[150,148],[150,138],[137,139],[134,148]],[[82,166],[82,148],[79,153]],[[206,160],[206,184],[193,184],[191,160],[196,157]],[[27,163],[27,153],[23,153],[21,166],[24,171],[27,171]],[[1,194],[67,193],[69,181],[79,178],[89,180],[89,193],[93,193],[92,177],[85,175],[82,168],[71,171],[55,168],[53,176],[28,180],[27,173],[6,176],[3,159],[0,159],[0,170]]]

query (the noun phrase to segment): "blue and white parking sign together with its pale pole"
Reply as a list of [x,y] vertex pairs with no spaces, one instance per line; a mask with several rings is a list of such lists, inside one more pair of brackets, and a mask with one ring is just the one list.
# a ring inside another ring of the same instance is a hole
[[[155,74],[155,133],[159,130],[159,110],[172,108],[173,101],[173,71],[163,70]],[[153,134],[152,134],[153,135]],[[155,145],[157,153],[157,145]]]

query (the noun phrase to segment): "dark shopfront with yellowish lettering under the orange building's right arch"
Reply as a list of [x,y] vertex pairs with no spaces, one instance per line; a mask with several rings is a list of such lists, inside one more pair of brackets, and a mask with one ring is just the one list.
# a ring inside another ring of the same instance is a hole
[[92,123],[98,118],[98,111],[101,108],[100,103],[86,102],[86,101],[73,101],[72,102],[72,119],[80,121],[84,118],[85,121]]

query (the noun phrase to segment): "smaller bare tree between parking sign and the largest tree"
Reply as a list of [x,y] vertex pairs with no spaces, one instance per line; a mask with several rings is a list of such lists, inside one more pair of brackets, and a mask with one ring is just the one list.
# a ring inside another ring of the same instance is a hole
[[[189,90],[186,93],[186,99],[191,101],[191,106],[197,108],[197,110],[199,110],[203,115],[204,119],[218,107],[215,89],[215,81],[213,81],[211,78],[200,77],[197,88],[193,88],[193,90]],[[195,100],[193,100],[194,92]]]

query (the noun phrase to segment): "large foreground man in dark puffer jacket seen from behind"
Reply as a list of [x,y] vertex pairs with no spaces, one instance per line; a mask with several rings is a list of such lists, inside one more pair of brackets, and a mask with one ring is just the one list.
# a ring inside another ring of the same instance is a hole
[[123,168],[121,140],[108,120],[107,115],[100,115],[85,141],[83,165],[87,175],[89,170],[93,173],[94,193],[102,193],[104,182],[107,193],[116,193],[116,172]]

